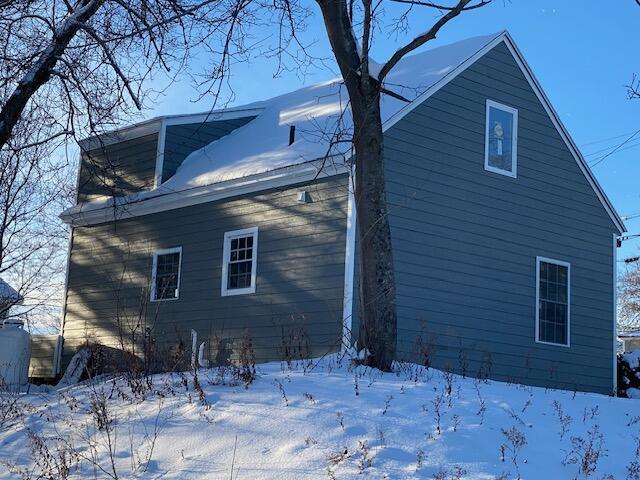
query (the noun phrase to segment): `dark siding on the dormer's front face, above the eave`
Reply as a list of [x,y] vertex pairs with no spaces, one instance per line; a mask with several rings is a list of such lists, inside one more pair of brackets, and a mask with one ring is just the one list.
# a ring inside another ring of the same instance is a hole
[[157,133],[83,153],[78,203],[152,189],[157,154]]

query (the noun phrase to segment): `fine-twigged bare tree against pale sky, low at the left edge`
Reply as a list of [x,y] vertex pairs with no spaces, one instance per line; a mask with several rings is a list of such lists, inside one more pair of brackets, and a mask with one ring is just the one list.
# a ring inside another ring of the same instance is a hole
[[[58,142],[26,147],[42,128],[35,112],[28,116],[29,122],[14,129],[25,148],[0,153],[0,276],[25,299],[19,313],[29,324],[37,319],[53,328],[61,308],[68,235],[57,213],[71,203],[71,172],[51,156]],[[6,302],[0,314],[12,303]]]

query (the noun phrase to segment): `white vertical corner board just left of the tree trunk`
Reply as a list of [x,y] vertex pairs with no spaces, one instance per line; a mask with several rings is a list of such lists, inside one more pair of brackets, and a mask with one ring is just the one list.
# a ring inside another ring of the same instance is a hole
[[356,259],[356,224],[357,212],[355,201],[355,184],[356,184],[355,166],[349,175],[347,189],[347,234],[344,253],[344,294],[342,307],[342,351],[351,348],[353,342],[353,277],[355,272]]

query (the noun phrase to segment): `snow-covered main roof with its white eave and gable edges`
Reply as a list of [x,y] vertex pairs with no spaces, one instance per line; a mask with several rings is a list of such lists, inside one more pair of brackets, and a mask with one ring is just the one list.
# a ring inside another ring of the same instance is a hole
[[[513,54],[613,223],[620,233],[624,232],[622,220],[506,31],[469,38],[402,59],[388,75],[385,85],[410,103],[383,95],[383,129],[400,121],[501,42]],[[372,65],[375,70],[377,65],[375,62]],[[307,176],[313,178],[320,167],[326,168],[325,162],[318,161],[323,158],[334,160],[335,171],[345,171],[344,160],[350,157],[351,147],[348,143],[336,142],[332,136],[336,131],[348,136],[352,130],[347,93],[340,78],[234,110],[247,108],[260,109],[254,120],[191,153],[175,175],[156,189],[122,199],[79,205],[64,212],[63,219],[76,225],[113,220],[114,204],[127,205],[118,218],[169,210],[230,197],[238,192],[247,193],[248,184],[253,191],[271,188],[274,176],[280,186],[292,172],[289,183],[299,182]],[[296,128],[296,140],[289,145],[291,126]],[[300,171],[313,171],[313,175],[300,176]]]

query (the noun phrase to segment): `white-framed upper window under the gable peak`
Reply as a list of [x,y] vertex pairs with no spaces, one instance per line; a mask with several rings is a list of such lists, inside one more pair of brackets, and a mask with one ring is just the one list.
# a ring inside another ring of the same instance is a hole
[[518,110],[487,100],[484,169],[516,177]]

